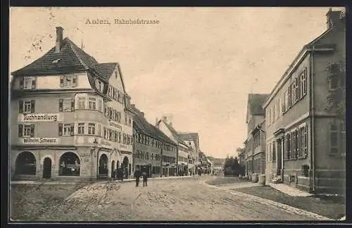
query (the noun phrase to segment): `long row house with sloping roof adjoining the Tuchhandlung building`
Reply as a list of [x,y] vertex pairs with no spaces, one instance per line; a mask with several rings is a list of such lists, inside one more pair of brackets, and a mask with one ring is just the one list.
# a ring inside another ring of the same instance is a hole
[[170,169],[163,168],[163,163],[164,165],[170,164],[172,158],[170,155],[177,151],[177,144],[161,130],[147,122],[144,113],[134,105],[130,107],[130,110],[135,114],[133,118],[135,169],[145,170],[149,177],[170,175]]

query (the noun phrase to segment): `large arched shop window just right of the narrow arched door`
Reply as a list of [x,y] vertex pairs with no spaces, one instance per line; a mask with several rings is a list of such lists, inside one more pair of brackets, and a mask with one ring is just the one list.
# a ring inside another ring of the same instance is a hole
[[80,158],[73,152],[66,152],[60,157],[59,176],[80,176]]

